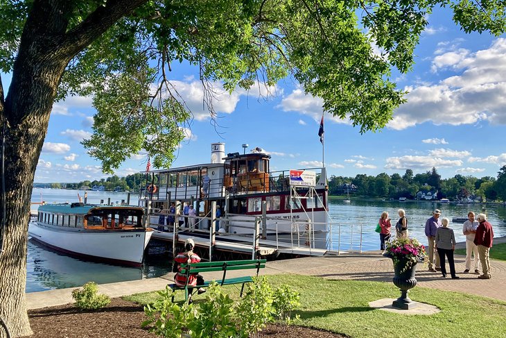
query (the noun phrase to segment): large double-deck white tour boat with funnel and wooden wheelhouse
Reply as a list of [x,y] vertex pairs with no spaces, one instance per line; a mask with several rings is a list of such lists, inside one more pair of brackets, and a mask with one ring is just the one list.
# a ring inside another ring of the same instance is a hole
[[[304,170],[309,171],[297,172]],[[297,186],[290,170],[270,171],[270,155],[261,149],[225,155],[225,144],[211,144],[211,163],[145,172],[149,183],[141,187],[139,203],[162,214],[175,203],[177,216],[182,216],[186,202],[201,217],[212,217],[216,203],[225,211],[218,226],[221,234],[252,235],[252,219],[263,217],[263,238],[293,242],[295,236],[297,245],[326,248],[326,174],[324,168],[311,172],[315,182]],[[152,223],[157,221],[157,215],[152,217]],[[209,221],[200,221],[199,228],[209,230]],[[310,240],[300,236],[308,232]]]

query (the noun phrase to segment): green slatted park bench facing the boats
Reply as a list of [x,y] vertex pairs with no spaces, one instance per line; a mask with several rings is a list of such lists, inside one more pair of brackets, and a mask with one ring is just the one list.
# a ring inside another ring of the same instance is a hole
[[[236,277],[236,278],[227,278],[227,271],[232,270],[245,270],[245,269],[256,269],[256,276],[259,276],[259,271],[261,268],[265,268],[265,260],[229,260],[222,262],[200,262],[200,263],[191,263],[191,264],[181,264],[181,273],[186,274],[186,285],[178,287],[175,284],[169,284],[168,286],[171,289],[175,290],[184,290],[184,301],[188,301],[188,289],[199,287],[208,287],[212,280],[204,282],[202,285],[191,286],[188,285],[189,276],[191,273],[205,273],[205,272],[213,272],[213,271],[223,271],[223,276],[221,279],[216,279],[215,281],[223,286],[223,285],[232,285],[232,284],[242,284],[241,287],[241,297],[243,296],[244,285],[246,283],[252,282],[252,276],[245,277]],[[204,276],[205,278],[205,276]],[[172,301],[174,302],[174,296],[172,297]]]

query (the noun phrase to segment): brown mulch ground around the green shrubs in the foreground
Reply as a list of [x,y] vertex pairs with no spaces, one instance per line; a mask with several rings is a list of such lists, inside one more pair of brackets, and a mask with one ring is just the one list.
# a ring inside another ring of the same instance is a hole
[[[141,323],[146,320],[143,308],[136,303],[113,298],[101,310],[82,311],[72,304],[28,311],[31,338],[148,338],[157,337],[143,330]],[[262,337],[269,338],[343,338],[331,332],[303,328],[301,326],[268,326]]]

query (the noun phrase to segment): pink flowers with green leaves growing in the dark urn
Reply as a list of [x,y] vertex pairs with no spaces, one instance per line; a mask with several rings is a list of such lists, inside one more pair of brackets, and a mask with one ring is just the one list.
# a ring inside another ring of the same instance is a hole
[[387,243],[384,257],[392,258],[394,265],[399,262],[405,262],[405,267],[401,269],[401,273],[418,262],[425,262],[426,251],[425,246],[420,244],[415,238],[397,238]]

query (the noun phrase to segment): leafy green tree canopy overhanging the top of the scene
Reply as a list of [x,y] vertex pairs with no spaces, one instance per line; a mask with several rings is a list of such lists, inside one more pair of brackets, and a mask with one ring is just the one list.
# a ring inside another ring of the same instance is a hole
[[[25,20],[44,1],[0,5],[0,68],[11,72]],[[123,1],[71,1],[64,36],[80,33]],[[408,71],[434,6],[450,6],[464,31],[504,31],[500,1],[137,1],[139,6],[76,51],[57,99],[93,94],[94,135],[84,142],[111,173],[145,149],[168,166],[191,112],[171,85],[180,62],[200,67],[210,114],[214,81],[226,90],[274,85],[293,76],[324,110],[360,133],[379,130],[403,103],[390,78]],[[58,1],[57,1],[58,3]],[[479,6],[478,6],[479,5]],[[54,8],[57,8],[55,5]],[[41,18],[42,19],[42,18]],[[70,41],[69,43],[72,43]],[[374,46],[380,53],[374,52]]]

